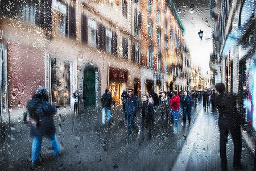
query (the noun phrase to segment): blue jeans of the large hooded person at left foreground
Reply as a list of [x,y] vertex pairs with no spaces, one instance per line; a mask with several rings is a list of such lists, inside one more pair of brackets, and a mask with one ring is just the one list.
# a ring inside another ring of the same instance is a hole
[[[53,154],[58,155],[61,152],[61,146],[59,141],[57,140],[56,134],[53,134],[48,137],[49,141],[51,143],[51,146],[53,148]],[[39,156],[41,153],[41,147],[42,147],[42,136],[35,136],[33,137],[32,141],[32,149],[31,149],[31,162],[32,164],[35,164],[39,160]]]

